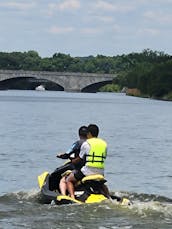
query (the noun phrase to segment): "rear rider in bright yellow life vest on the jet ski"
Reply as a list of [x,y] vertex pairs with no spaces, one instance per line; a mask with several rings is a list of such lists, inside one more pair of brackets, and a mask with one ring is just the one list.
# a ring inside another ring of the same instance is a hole
[[[85,165],[81,170],[73,170],[66,178],[67,189],[72,198],[75,198],[74,185],[77,181],[88,175],[104,175],[107,143],[98,138],[99,128],[97,125],[90,124],[87,131],[87,140],[82,144],[79,156],[72,161],[75,164],[81,160],[84,161]],[[109,191],[105,185],[104,192],[109,197]]]

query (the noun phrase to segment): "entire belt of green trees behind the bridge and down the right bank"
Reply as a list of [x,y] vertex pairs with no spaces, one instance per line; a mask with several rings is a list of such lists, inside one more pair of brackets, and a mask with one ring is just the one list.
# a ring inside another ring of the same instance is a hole
[[71,57],[55,53],[52,57],[41,58],[36,51],[0,52],[0,69],[117,73],[113,84],[104,86],[101,91],[126,88],[130,95],[172,100],[172,57],[149,49],[113,57]]

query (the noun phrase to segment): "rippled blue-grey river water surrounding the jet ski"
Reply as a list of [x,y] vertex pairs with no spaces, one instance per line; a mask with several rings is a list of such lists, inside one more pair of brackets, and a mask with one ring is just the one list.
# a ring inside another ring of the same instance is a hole
[[[111,192],[132,206],[42,205],[37,176],[96,123]],[[172,228],[172,103],[115,93],[0,91],[0,228]]]

